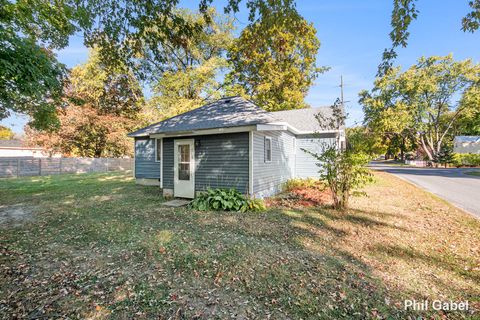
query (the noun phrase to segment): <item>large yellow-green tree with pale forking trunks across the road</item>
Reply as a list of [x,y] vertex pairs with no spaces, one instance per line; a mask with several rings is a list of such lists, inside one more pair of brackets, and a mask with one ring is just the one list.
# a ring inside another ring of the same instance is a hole
[[389,69],[371,92],[360,93],[365,124],[381,135],[412,136],[430,160],[461,117],[478,111],[480,65],[452,56],[420,58],[402,72]]

